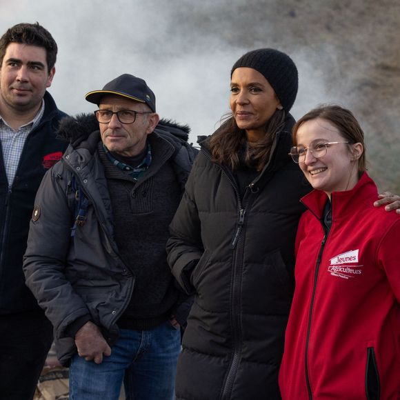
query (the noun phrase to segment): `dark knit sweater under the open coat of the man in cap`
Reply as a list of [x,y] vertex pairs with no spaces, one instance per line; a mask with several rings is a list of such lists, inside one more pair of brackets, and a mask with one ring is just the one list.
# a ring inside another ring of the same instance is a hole
[[[113,166],[99,146],[112,204],[114,239],[132,271],[135,286],[119,328],[147,330],[166,321],[178,292],[166,262],[168,225],[179,205],[181,190],[160,141],[152,142],[152,163],[135,183]],[[115,154],[114,154],[115,156]],[[124,157],[123,160],[127,159]],[[139,163],[142,160],[139,160]]]

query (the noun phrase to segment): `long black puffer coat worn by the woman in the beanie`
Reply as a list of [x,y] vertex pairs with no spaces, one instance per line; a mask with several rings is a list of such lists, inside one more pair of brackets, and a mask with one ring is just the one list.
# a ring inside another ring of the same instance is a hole
[[167,245],[172,273],[195,292],[177,399],[280,398],[299,199],[310,190],[288,156],[292,124],[288,117],[242,200],[232,172],[213,163],[205,146],[194,162]]

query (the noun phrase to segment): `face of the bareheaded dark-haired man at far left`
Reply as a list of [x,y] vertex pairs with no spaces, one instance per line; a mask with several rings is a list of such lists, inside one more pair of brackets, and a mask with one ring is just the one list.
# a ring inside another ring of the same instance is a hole
[[48,71],[45,48],[10,43],[1,63],[0,108],[19,113],[39,110],[54,72],[54,67]]

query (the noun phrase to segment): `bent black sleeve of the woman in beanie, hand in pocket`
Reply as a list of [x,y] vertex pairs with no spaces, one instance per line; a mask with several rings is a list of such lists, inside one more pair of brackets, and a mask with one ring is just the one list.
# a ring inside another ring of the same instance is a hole
[[196,169],[196,162],[194,162],[185,193],[170,224],[171,236],[166,247],[172,274],[188,293],[193,292],[190,274],[203,254],[201,223],[193,190]]

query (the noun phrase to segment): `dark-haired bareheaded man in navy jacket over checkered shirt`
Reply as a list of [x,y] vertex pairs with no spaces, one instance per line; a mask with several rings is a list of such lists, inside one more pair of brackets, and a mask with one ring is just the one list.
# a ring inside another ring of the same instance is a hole
[[66,143],[55,139],[57,109],[46,91],[57,44],[39,23],[19,23],[0,39],[0,397],[32,399],[52,343],[52,326],[25,286],[34,197]]

